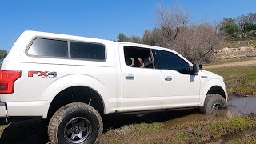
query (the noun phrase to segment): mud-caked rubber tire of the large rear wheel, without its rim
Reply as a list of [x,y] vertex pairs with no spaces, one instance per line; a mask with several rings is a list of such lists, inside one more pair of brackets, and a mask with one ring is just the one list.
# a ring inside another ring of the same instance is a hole
[[48,126],[48,136],[51,144],[66,144],[68,142],[65,138],[66,124],[73,118],[86,118],[90,122],[90,134],[81,144],[98,143],[102,135],[103,123],[100,114],[94,107],[86,105],[85,103],[74,102],[66,106],[62,106],[55,112],[50,119]]

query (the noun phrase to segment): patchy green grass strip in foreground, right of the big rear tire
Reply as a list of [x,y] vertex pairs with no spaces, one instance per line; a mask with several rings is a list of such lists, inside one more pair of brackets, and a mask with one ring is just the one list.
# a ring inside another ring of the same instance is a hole
[[190,122],[170,128],[162,123],[133,124],[109,130],[101,143],[198,143],[256,127],[254,118],[230,118],[209,122]]

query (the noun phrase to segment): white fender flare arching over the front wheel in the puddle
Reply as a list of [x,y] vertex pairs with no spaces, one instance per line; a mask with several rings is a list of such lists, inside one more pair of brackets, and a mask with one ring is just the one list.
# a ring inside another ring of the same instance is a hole
[[209,81],[206,82],[204,86],[202,86],[202,89],[200,90],[200,100],[199,104],[200,106],[204,105],[205,99],[206,99],[206,94],[210,90],[211,87],[213,86],[220,86],[225,92],[226,95],[226,100],[227,100],[227,92],[226,92],[226,86],[225,83],[220,81],[219,79],[210,79]]

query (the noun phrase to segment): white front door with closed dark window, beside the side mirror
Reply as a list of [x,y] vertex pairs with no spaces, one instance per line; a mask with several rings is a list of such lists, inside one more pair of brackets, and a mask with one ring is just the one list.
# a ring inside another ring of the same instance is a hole
[[174,51],[153,53],[162,73],[162,109],[198,106],[200,78],[190,74],[190,63]]

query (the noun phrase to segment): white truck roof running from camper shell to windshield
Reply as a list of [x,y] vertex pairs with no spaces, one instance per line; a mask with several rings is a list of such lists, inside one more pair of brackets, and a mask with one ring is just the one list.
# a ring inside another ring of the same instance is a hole
[[[184,58],[181,54],[178,54],[176,51],[158,47],[158,46],[149,46],[143,45],[138,43],[131,43],[131,42],[114,42],[106,39],[98,39],[98,38],[88,38],[88,37],[81,37],[81,36],[74,36],[74,35],[67,35],[67,34],[54,34],[54,33],[47,33],[47,32],[39,32],[39,31],[32,31],[26,30],[24,31],[21,36],[17,39],[14,43],[14,46],[10,49],[10,52],[6,58],[4,58],[4,62],[14,62],[18,59],[26,59],[27,54],[25,53],[25,48],[30,45],[34,38],[53,38],[57,40],[66,40],[66,41],[74,41],[74,42],[94,42],[94,43],[101,43],[105,46],[108,46],[108,49],[118,48],[120,45],[123,46],[138,46],[138,47],[145,47],[149,49],[156,49],[156,50],[166,50],[177,54],[178,56],[182,57],[186,62],[189,62],[186,58]],[[112,45],[113,44],[113,45]],[[191,64],[191,62],[189,62]]]

